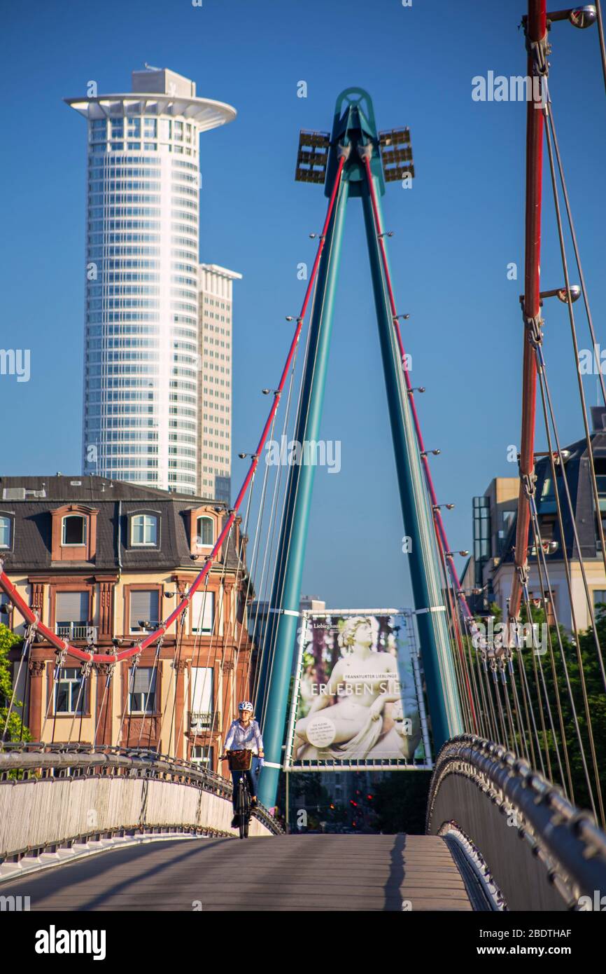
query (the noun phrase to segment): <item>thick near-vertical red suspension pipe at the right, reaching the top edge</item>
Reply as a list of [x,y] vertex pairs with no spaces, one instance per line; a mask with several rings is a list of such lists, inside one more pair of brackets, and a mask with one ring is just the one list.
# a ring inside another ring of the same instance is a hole
[[[547,71],[545,48],[547,39],[547,0],[528,0],[525,21],[528,51],[527,75],[532,93],[526,108],[526,232],[524,256],[524,339],[521,404],[521,440],[519,448],[519,497],[517,502],[517,532],[515,573],[512,581],[509,615],[517,618],[521,600],[522,580],[527,572],[528,529],[530,507],[528,488],[534,476],[534,431],[536,413],[537,370],[533,335],[540,320],[540,264],[541,264],[541,202],[543,189],[543,106],[535,100],[535,86],[543,91],[542,72]],[[538,83],[534,81],[539,78]],[[536,93],[538,94],[538,92]]]

